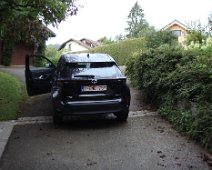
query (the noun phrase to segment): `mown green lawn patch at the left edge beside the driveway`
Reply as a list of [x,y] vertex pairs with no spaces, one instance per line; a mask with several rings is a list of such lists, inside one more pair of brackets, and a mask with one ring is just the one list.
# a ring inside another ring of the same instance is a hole
[[7,73],[0,72],[0,120],[17,118],[20,104],[26,97],[24,85]]

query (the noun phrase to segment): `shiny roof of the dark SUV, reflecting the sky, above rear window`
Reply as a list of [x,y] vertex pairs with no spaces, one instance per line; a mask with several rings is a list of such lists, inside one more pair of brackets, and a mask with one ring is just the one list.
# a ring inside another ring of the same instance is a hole
[[103,53],[65,53],[61,56],[66,63],[76,62],[115,62],[108,54]]

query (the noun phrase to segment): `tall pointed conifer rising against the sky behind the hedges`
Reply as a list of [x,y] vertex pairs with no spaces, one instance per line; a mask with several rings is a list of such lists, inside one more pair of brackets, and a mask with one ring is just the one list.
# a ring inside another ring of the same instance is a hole
[[148,26],[148,23],[144,19],[143,9],[138,2],[131,8],[127,17],[128,27],[125,29],[128,34],[127,37],[139,37],[139,32]]

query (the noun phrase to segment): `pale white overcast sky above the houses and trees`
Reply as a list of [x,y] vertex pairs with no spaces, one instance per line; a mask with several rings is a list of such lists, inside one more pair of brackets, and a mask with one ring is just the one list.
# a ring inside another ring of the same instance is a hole
[[[137,0],[144,10],[145,19],[156,29],[161,29],[173,20],[184,24],[200,20],[207,24],[212,13],[212,0]],[[72,16],[59,24],[49,26],[56,33],[47,44],[61,44],[74,38],[98,40],[126,34],[127,16],[136,0],[78,0],[84,7],[77,16]]]

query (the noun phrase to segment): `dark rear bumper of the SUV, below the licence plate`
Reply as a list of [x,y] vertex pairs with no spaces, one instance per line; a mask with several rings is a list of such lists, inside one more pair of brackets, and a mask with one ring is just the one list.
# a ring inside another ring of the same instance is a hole
[[98,101],[72,101],[61,102],[60,107],[55,108],[58,114],[106,114],[129,110],[129,106],[123,104],[122,99],[98,100]]

